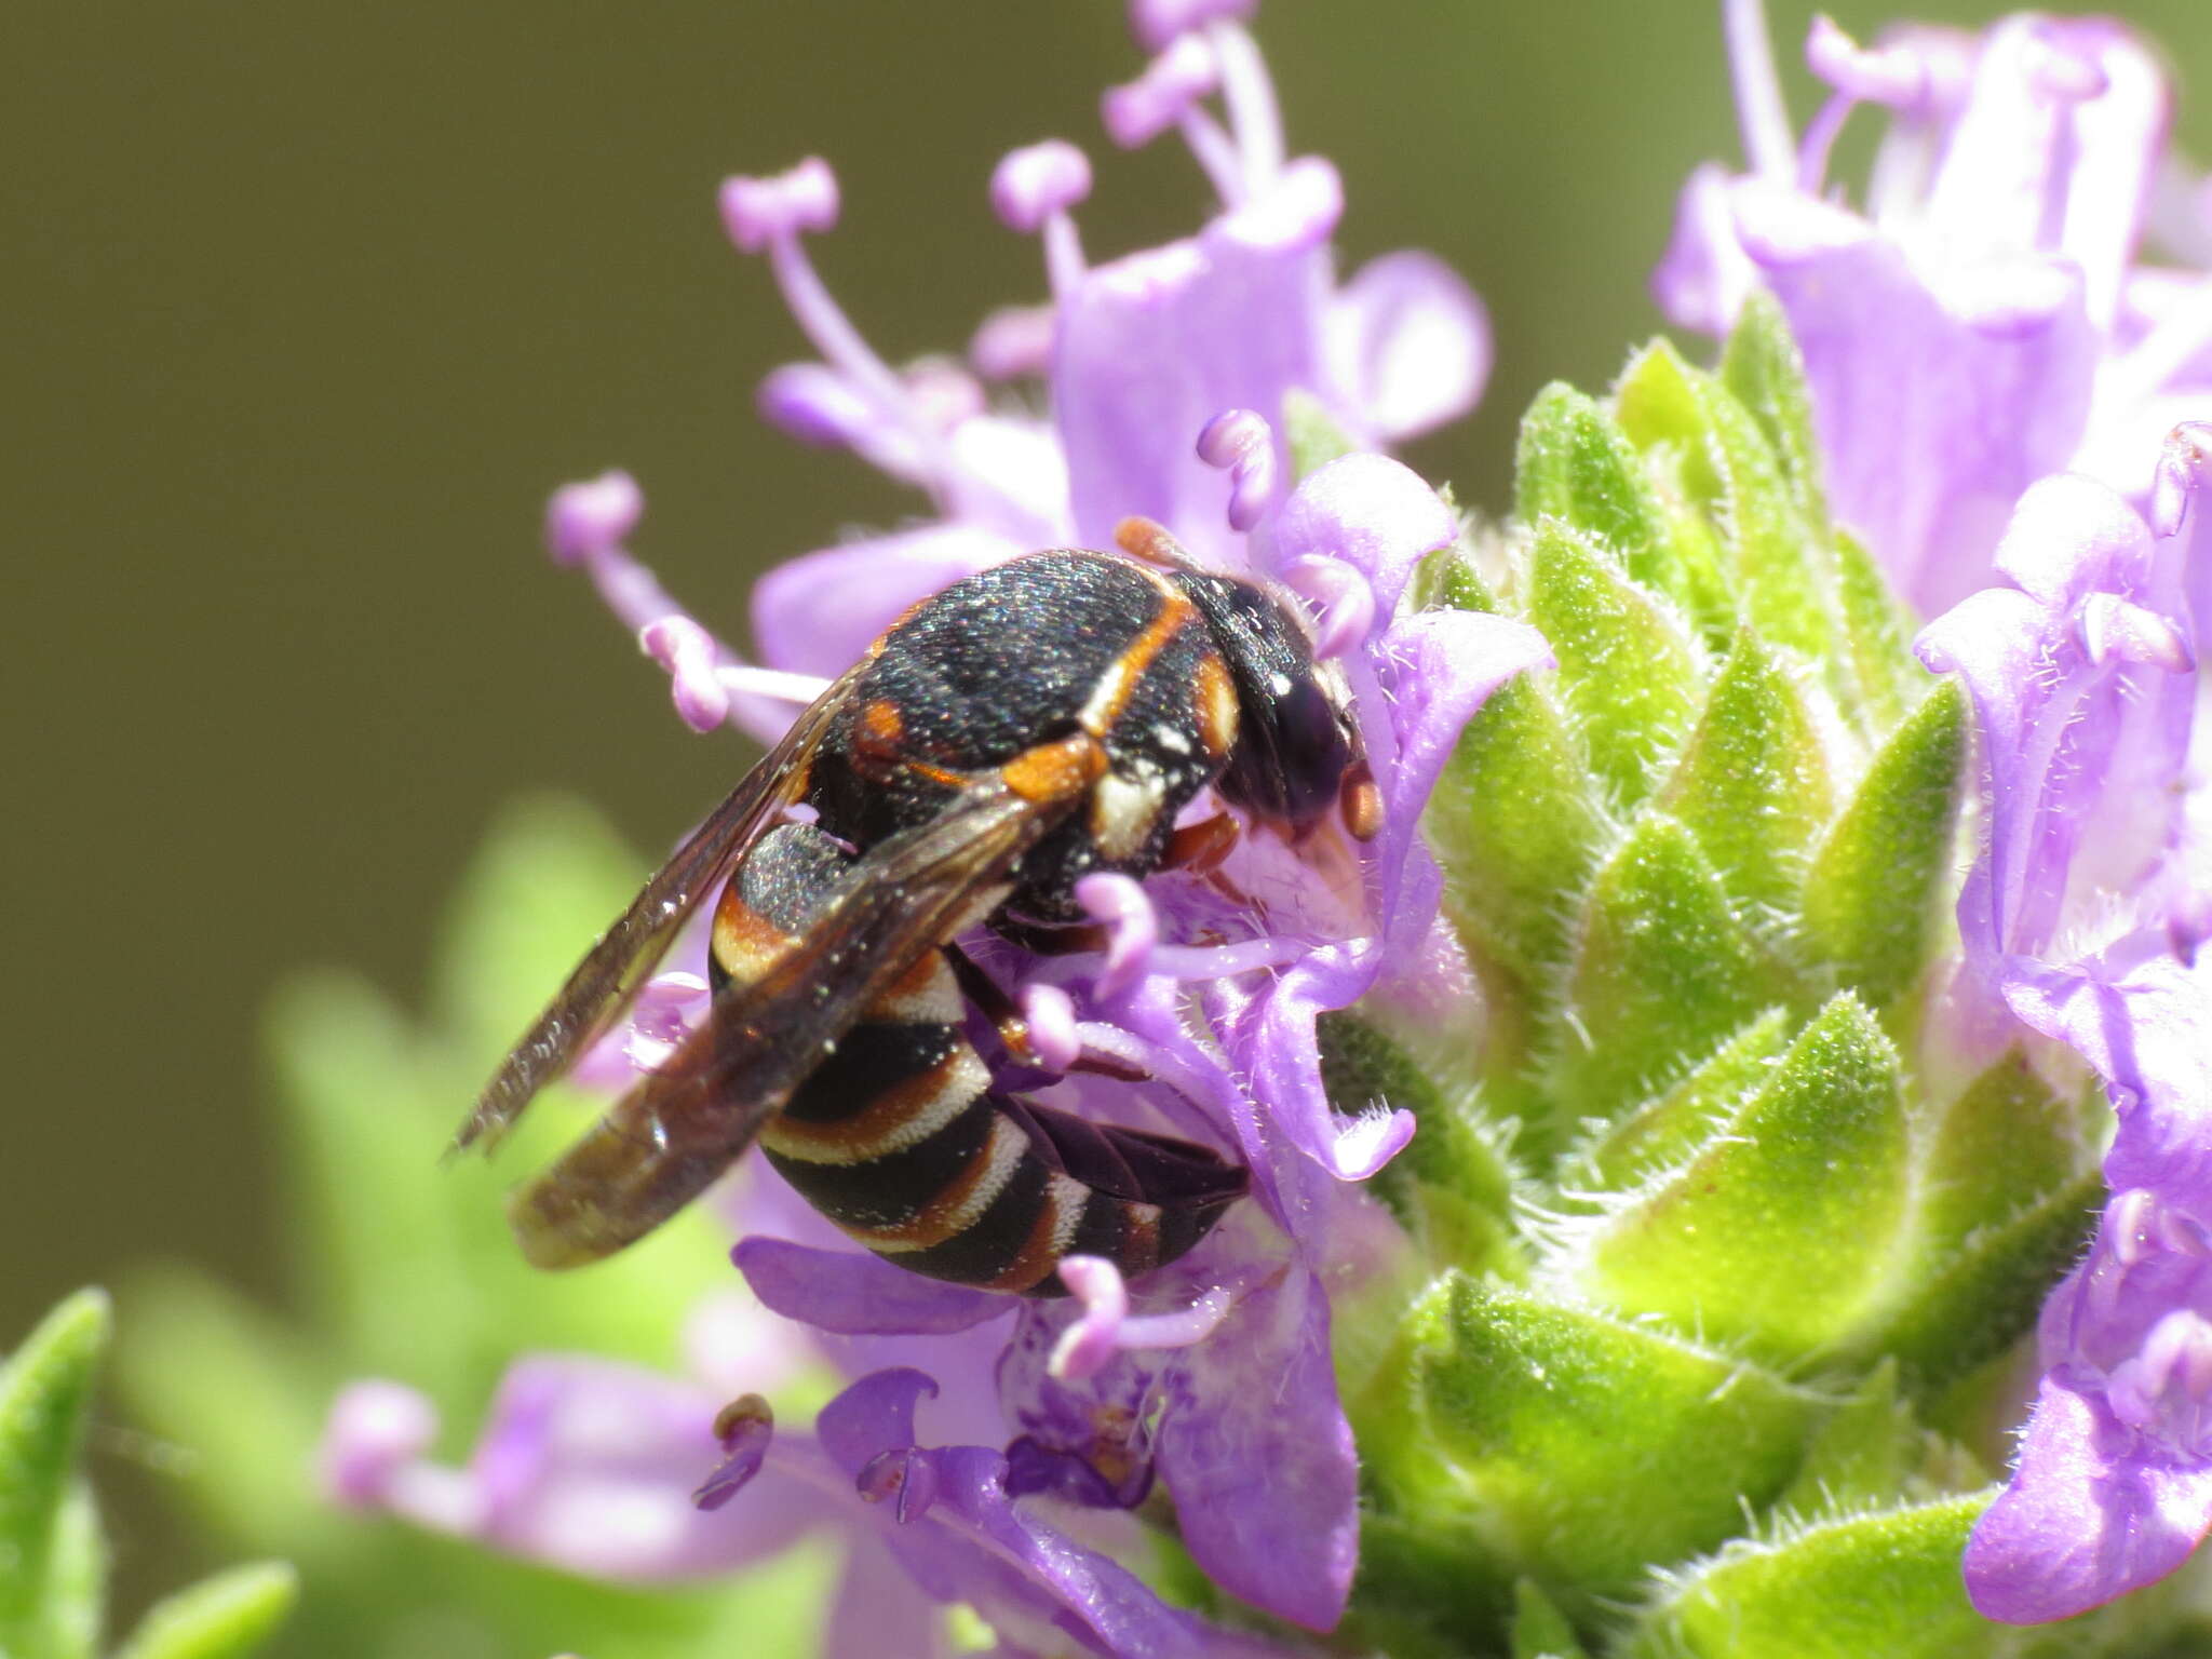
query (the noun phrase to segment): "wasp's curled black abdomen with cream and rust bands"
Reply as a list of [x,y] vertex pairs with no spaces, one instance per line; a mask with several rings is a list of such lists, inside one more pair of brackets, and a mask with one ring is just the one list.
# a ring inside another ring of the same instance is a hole
[[[787,951],[845,863],[810,825],[761,836],[714,911],[714,989]],[[1201,1146],[995,1093],[962,1015],[945,951],[922,953],[761,1130],[858,1243],[929,1279],[1053,1296],[1062,1256],[1148,1272],[1243,1194],[1245,1170]]]

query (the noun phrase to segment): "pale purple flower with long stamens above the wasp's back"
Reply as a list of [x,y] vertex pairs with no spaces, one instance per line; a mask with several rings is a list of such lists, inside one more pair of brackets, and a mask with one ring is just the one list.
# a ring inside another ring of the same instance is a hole
[[[1214,467],[1192,449],[1225,409],[1259,411],[1274,434],[1292,392],[1318,396],[1365,442],[1425,431],[1473,407],[1489,374],[1489,323],[1473,292],[1420,252],[1376,259],[1336,285],[1329,237],[1343,212],[1336,170],[1321,157],[1285,159],[1274,91],[1259,53],[1225,7],[1192,7],[1144,24],[1166,40],[1133,84],[1106,97],[1121,146],[1175,131],[1212,184],[1221,212],[1197,237],[1084,259],[1073,208],[1091,192],[1075,146],[1044,142],[1009,155],[991,204],[1015,230],[1044,241],[1051,303],[984,321],[967,365],[929,358],[907,369],[867,345],[823,285],[803,237],[838,217],[827,164],[803,161],[772,179],[730,179],[723,223],[761,252],[792,316],[821,352],[761,383],[761,414],[794,438],[852,449],[931,498],[914,529],[852,542],[770,573],[752,599],[754,637],[770,668],[843,672],[911,602],[947,582],[1040,546],[1110,546],[1126,515],[1175,526],[1190,546],[1230,562]],[[1208,100],[1219,95],[1228,119]],[[1051,418],[989,383],[1044,380]],[[1290,467],[1281,438],[1265,484],[1241,480],[1248,507],[1279,504]],[[622,553],[628,524],[555,549],[582,557],[630,628],[684,613]],[[717,708],[712,668],[739,697],[721,706],[752,730],[776,714],[743,692],[770,681],[730,675],[737,657],[701,633],[677,703],[686,719]],[[701,648],[710,646],[710,657]],[[803,686],[783,690],[805,692]]]

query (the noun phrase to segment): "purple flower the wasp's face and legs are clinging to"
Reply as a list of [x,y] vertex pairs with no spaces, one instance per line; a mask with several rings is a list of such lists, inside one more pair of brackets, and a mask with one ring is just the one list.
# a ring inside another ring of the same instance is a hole
[[[1391,619],[1413,564],[1453,533],[1402,467],[1347,456],[1250,535],[1248,568],[1310,575],[1327,560],[1329,586],[1360,595],[1363,635],[1345,639],[1343,661],[1385,799],[1385,832],[1365,856],[1329,841],[1334,869],[1316,869],[1310,854],[1252,841],[1223,885],[1102,878],[1084,902],[1113,929],[1104,956],[1031,960],[971,942],[1018,991],[1064,998],[1077,1053],[1150,1077],[1077,1077],[1048,1102],[1108,1119],[1152,1104],[1170,1128],[1232,1144],[1259,1201],[1148,1279],[1139,1305],[1106,1263],[1066,1263],[1075,1307],[1020,1312],[1000,1367],[1015,1480],[1119,1506],[1157,1475],[1214,1582],[1310,1628],[1340,1617],[1358,1537],[1325,1287],[1365,1281],[1396,1243],[1343,1183],[1380,1168],[1413,1128],[1407,1113],[1334,1113],[1314,1022],[1378,989],[1442,1000],[1462,989],[1416,823],[1482,699],[1548,659],[1528,628],[1498,617]],[[1199,936],[1223,942],[1177,942]],[[852,1250],[748,1239],[737,1261],[770,1307],[832,1332],[947,1332],[1011,1312]]]

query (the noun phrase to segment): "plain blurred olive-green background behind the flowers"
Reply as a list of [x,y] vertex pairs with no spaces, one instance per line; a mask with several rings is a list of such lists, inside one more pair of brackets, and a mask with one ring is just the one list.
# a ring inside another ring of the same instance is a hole
[[[1809,13],[1774,7],[1798,119]],[[2128,15],[2212,153],[2203,0]],[[1416,460],[1502,502],[1517,409],[1657,327],[1674,190],[1736,155],[1717,4],[1276,0],[1261,42],[1296,148],[1343,166],[1347,261],[1427,246],[1486,299],[1484,407]],[[1093,153],[1093,257],[1206,197],[1097,131],[1139,66],[1110,0],[9,0],[0,62],[4,1345],[150,1254],[276,1294],[272,982],[336,960],[414,998],[498,803],[582,792],[655,847],[743,765],[546,566],[549,487],[637,471],[641,551],[737,633],[765,562],[916,509],[754,422],[803,347],[721,239],[723,173],[836,161],[816,252],[891,356],[1040,292],[984,204],[1009,146]],[[144,1498],[133,1462],[95,1473]],[[168,1575],[150,1515],[126,1601]]]

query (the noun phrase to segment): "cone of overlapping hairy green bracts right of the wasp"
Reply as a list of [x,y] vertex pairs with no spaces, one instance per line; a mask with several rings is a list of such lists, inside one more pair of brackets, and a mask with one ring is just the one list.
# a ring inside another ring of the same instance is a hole
[[1922,1055],[1966,708],[1827,518],[1772,303],[1717,372],[1652,345],[1608,398],[1544,392],[1515,522],[1420,593],[1559,666],[1475,717],[1429,818],[1480,1020],[1325,1026],[1340,1099],[1420,1117],[1378,1190],[1433,1274],[1340,1345],[1358,1637],[2033,1650],[1958,1553],[2097,1148],[2020,1055]]

